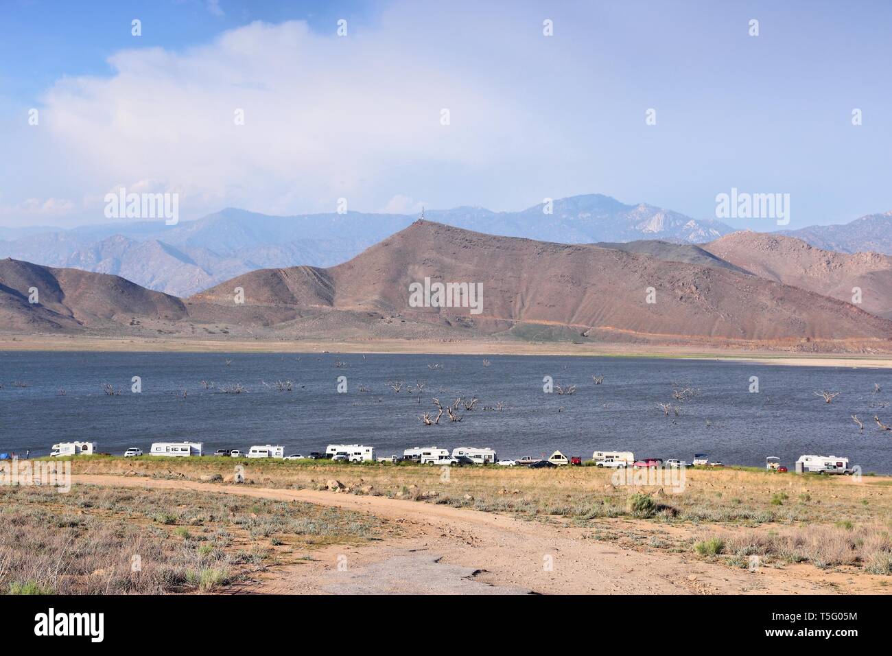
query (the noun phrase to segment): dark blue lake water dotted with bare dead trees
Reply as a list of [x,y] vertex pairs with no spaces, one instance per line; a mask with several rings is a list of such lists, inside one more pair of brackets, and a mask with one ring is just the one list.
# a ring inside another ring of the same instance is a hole
[[[594,375],[604,382],[596,385]],[[134,376],[142,379],[139,394],[130,391]],[[575,385],[575,394],[545,394],[545,376]],[[758,393],[748,391],[754,376]],[[293,391],[277,391],[277,380],[292,380]],[[394,393],[392,380],[412,392]],[[105,383],[120,395],[105,394]],[[490,446],[500,458],[560,449],[588,459],[599,449],[687,461],[708,453],[725,464],[764,466],[766,455],[778,455],[790,469],[801,454],[818,453],[892,473],[892,433],[873,420],[892,423],[888,370],[553,356],[0,352],[0,384],[0,452],[46,454],[71,440],[96,441],[105,453],[181,440],[203,442],[205,453],[282,444],[285,453],[306,454],[359,443],[391,455],[469,445]],[[244,393],[219,391],[238,384]],[[673,388],[681,387],[698,391],[677,402]],[[824,403],[816,390],[839,395]],[[445,414],[439,426],[419,419],[434,411],[433,397],[445,406],[458,396],[479,399],[476,410],[461,410],[460,422]],[[483,410],[500,403],[502,410]],[[665,416],[658,403],[677,405],[679,415]]]

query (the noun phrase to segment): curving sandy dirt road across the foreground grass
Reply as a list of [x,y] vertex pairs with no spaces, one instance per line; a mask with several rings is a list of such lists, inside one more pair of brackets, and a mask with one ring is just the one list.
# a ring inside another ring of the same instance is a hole
[[301,501],[399,522],[400,538],[335,545],[271,569],[242,592],[267,594],[863,594],[885,577],[808,565],[732,569],[693,554],[634,551],[591,529],[467,509],[314,490],[77,475],[75,484],[222,492]]

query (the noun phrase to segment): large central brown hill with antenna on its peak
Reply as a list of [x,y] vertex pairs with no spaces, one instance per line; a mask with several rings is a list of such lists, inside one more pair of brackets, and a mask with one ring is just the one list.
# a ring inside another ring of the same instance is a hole
[[[409,285],[425,277],[482,284],[483,311],[409,307]],[[237,286],[244,288],[245,305],[256,311],[367,312],[482,334],[538,324],[570,327],[577,336],[593,329],[599,336],[666,339],[892,337],[892,322],[852,304],[736,270],[594,245],[492,237],[429,221],[416,221],[330,269],[263,270],[233,278],[191,297],[190,312],[232,307]],[[648,287],[656,303],[647,303]]]

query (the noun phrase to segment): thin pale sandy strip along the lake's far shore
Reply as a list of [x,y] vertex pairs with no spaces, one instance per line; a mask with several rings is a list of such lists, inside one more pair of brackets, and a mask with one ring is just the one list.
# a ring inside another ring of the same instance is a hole
[[892,369],[892,354],[844,355],[705,349],[703,347],[571,344],[568,342],[436,342],[424,340],[368,340],[320,342],[312,340],[201,340],[169,338],[112,338],[85,336],[0,336],[0,351],[103,351],[128,353],[431,353],[458,355],[582,355],[609,357],[679,358],[748,361],[811,367]]

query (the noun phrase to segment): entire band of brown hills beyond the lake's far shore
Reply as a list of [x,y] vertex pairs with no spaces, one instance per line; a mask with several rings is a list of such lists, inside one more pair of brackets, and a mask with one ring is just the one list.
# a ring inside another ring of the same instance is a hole
[[[879,316],[892,308],[885,256],[831,253],[826,263],[826,252],[797,239],[746,232],[703,246],[621,246],[417,220],[337,266],[253,270],[185,299],[115,276],[3,260],[0,331],[892,350],[892,321]],[[412,284],[425,278],[480,284],[481,311],[412,303]],[[851,303],[855,282],[877,313]],[[28,302],[31,287],[40,303]]]

